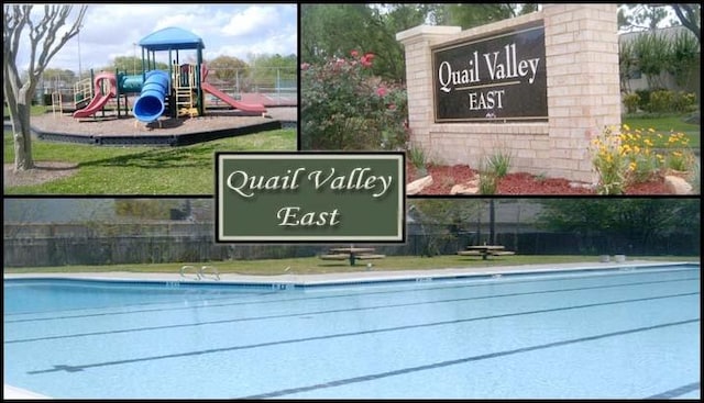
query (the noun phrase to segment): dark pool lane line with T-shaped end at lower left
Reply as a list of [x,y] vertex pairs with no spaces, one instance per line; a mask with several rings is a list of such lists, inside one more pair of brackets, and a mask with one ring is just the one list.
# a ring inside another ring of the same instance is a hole
[[[196,351],[188,351],[188,352],[175,352],[175,354],[166,354],[166,355],[161,355],[161,356],[130,358],[130,359],[103,361],[103,362],[96,362],[96,363],[84,363],[84,365],[73,365],[73,366],[69,366],[69,365],[54,365],[54,368],[51,368],[51,369],[28,371],[26,373],[28,374],[38,374],[38,373],[58,372],[58,371],[78,372],[78,371],[82,371],[82,370],[88,369],[88,368],[109,367],[109,366],[118,366],[118,365],[134,363],[134,362],[142,362],[142,361],[153,361],[153,360],[160,360],[160,359],[168,359],[168,358],[183,358],[183,357],[202,356],[202,355],[208,355],[208,354],[218,354],[218,352],[226,352],[226,351],[235,351],[235,350],[245,350],[245,349],[254,349],[254,348],[262,348],[262,347],[280,346],[280,345],[287,345],[287,344],[295,344],[295,343],[307,343],[307,342],[315,342],[315,340],[326,340],[326,339],[341,338],[341,337],[356,337],[356,336],[362,336],[362,335],[391,333],[391,332],[399,332],[399,331],[409,331],[409,329],[414,329],[414,328],[457,325],[457,324],[460,324],[460,323],[487,321],[487,320],[496,320],[496,318],[514,317],[514,316],[522,316],[522,315],[535,315],[535,314],[542,314],[542,313],[553,313],[553,312],[562,312],[562,311],[572,311],[572,310],[588,309],[588,307],[594,307],[594,306],[617,305],[617,304],[635,303],[635,302],[642,302],[642,301],[664,300],[664,299],[669,299],[669,298],[691,296],[691,295],[695,295],[695,294],[698,294],[698,292],[696,292],[696,293],[662,295],[662,296],[656,296],[656,298],[640,298],[640,299],[632,299],[632,300],[610,301],[610,302],[602,302],[602,303],[593,303],[593,304],[584,304],[584,305],[552,307],[552,309],[547,309],[547,310],[513,312],[513,313],[506,313],[506,314],[501,314],[501,315],[477,316],[477,317],[469,317],[469,318],[463,318],[463,320],[420,323],[420,324],[415,324],[415,325],[403,325],[403,326],[376,328],[376,329],[370,329],[370,331],[338,333],[338,334],[323,335],[323,336],[300,337],[300,338],[292,338],[292,339],[285,339],[285,340],[276,340],[276,342],[264,342],[264,343],[257,343],[257,344],[252,344],[252,345],[209,348],[209,349],[205,349],[205,350],[196,350]],[[697,321],[700,321],[700,318],[688,320],[685,322],[697,322]]]

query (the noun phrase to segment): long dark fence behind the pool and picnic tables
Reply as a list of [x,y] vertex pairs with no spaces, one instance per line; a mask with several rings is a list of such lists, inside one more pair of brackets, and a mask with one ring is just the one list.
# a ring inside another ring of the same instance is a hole
[[[106,232],[103,228],[97,234],[95,228],[57,228],[46,225],[34,231],[9,231],[6,225],[4,267],[278,259],[316,256],[333,246],[216,244],[215,231],[208,224],[140,225],[127,232],[114,227],[110,230]],[[468,245],[477,245],[481,242],[477,238],[480,237],[472,233],[408,234],[404,244],[355,246],[373,246],[377,253],[388,256],[454,255]],[[496,243],[519,255],[700,254],[700,237],[686,234],[660,236],[639,243],[604,234],[580,236],[569,233],[499,233],[496,234]]]

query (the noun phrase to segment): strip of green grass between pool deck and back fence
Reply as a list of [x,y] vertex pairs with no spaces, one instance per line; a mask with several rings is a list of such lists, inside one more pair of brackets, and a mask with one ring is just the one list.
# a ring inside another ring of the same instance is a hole
[[[698,262],[700,257],[681,257],[681,256],[657,256],[657,257],[637,257],[628,256],[628,260],[651,260],[651,261],[690,261]],[[514,255],[492,257],[482,260],[479,257],[463,257],[457,255],[443,255],[436,257],[418,257],[418,256],[387,256],[384,259],[372,260],[373,271],[400,271],[400,270],[429,270],[443,268],[476,268],[484,269],[496,266],[519,266],[519,265],[560,265],[585,262],[594,265],[598,261],[597,256],[580,256],[580,255],[548,255],[548,256],[529,256]],[[62,267],[34,267],[34,268],[4,268],[4,273],[30,273],[30,272],[110,272],[110,271],[128,271],[128,272],[163,272],[178,273],[183,265],[202,265],[205,262],[172,262],[155,265],[110,265],[110,266],[62,266]],[[317,257],[306,258],[288,258],[288,259],[263,259],[263,260],[232,260],[232,261],[213,261],[208,262],[215,266],[220,273],[239,273],[239,275],[320,275],[330,272],[350,272],[365,271],[366,262],[361,261],[359,265],[351,267],[349,262],[321,260]],[[288,271],[284,271],[289,268]]]

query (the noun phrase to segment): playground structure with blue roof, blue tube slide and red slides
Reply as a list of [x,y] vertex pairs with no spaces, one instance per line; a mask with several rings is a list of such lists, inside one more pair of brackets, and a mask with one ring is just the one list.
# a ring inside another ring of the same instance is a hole
[[[210,93],[228,105],[249,114],[264,114],[262,104],[243,103],[206,82],[208,69],[202,63],[202,40],[190,32],[178,27],[156,31],[139,42],[142,48],[142,74],[127,75],[100,72],[89,82],[79,82],[75,88],[75,119],[95,116],[105,111],[112,99],[117,99],[118,117],[122,108],[120,98],[124,98],[124,112],[129,110],[128,94],[139,94],[132,105],[132,115],[138,122],[152,123],[162,115],[172,117],[205,115],[204,93]],[[196,64],[179,64],[179,51],[195,49]],[[168,52],[168,71],[156,69],[156,52]],[[92,76],[92,75],[91,75]],[[135,122],[136,123],[136,122]]]

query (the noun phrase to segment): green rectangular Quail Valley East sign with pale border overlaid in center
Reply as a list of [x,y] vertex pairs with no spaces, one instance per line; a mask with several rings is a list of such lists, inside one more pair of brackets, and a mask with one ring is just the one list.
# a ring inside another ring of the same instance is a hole
[[217,242],[405,239],[404,153],[216,153]]

